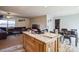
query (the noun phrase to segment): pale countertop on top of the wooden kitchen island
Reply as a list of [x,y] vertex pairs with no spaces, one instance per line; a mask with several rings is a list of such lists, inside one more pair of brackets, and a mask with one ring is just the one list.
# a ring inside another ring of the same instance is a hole
[[44,43],[54,42],[61,35],[54,33],[44,33],[44,34],[32,34],[31,32],[24,31],[24,34],[27,34],[31,37],[34,37]]

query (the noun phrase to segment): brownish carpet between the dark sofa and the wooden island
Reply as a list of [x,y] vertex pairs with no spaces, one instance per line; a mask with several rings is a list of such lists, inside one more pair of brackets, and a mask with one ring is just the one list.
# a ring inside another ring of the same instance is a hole
[[0,49],[5,49],[11,46],[23,44],[22,35],[10,35],[7,39],[0,40]]

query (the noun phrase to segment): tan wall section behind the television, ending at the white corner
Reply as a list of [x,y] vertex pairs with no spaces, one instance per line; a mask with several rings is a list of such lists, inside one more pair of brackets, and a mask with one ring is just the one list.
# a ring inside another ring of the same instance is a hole
[[40,29],[46,29],[47,27],[47,17],[46,16],[38,16],[31,18],[31,24],[38,24]]

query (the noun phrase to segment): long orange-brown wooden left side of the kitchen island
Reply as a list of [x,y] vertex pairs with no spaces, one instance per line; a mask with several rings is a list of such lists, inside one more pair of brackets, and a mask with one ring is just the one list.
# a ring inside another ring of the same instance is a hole
[[23,46],[27,52],[43,52],[45,51],[45,43],[23,34]]

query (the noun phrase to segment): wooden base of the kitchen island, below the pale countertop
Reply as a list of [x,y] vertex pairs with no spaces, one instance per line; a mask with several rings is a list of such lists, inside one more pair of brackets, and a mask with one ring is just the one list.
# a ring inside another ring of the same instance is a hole
[[23,46],[27,52],[58,52],[59,51],[59,41],[57,38],[55,42],[44,43],[32,36],[23,34]]

